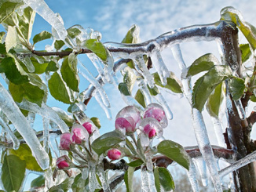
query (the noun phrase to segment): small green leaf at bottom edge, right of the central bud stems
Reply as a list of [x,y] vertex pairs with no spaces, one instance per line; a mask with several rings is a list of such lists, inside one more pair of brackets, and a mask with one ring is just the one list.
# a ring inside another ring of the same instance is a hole
[[162,167],[155,168],[154,176],[155,176],[155,188],[158,192],[161,191],[161,187],[163,187],[164,191],[175,190],[174,179],[166,168],[162,168]]

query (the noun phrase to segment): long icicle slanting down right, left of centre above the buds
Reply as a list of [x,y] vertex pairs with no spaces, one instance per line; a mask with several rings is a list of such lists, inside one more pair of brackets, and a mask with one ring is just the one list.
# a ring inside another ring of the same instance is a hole
[[[80,68],[79,74],[82,74],[82,77],[86,78],[87,81],[90,82],[97,89],[97,92],[99,92],[101,100],[103,101],[104,105],[106,107],[110,107],[108,96],[102,88],[101,84],[97,82],[97,79],[93,77],[90,71],[88,71],[88,69],[83,64],[81,64],[81,66],[82,67]],[[81,92],[80,96],[84,96],[84,92]]]

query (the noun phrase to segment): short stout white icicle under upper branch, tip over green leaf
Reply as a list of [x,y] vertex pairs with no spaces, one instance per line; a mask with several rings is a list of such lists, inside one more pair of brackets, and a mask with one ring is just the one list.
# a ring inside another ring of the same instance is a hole
[[159,50],[156,50],[155,53],[151,56],[152,64],[154,65],[159,78],[163,85],[167,84],[167,78],[170,77],[170,72],[168,71],[166,64],[163,62],[163,58]]

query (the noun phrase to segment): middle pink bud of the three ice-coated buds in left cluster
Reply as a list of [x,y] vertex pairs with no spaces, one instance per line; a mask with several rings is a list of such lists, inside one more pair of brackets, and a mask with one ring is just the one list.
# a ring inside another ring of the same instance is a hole
[[82,140],[86,140],[89,137],[89,134],[86,131],[86,129],[82,125],[78,124],[73,125],[71,129],[71,134],[72,142],[76,144],[81,144]]

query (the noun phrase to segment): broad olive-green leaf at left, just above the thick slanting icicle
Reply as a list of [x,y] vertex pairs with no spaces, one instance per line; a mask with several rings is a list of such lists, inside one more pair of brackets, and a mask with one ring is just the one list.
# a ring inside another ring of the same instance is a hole
[[36,85],[32,85],[30,82],[15,85],[9,83],[9,92],[13,96],[13,100],[21,102],[23,99],[29,100],[32,103],[38,104],[41,107],[42,101],[45,96],[45,92]]

